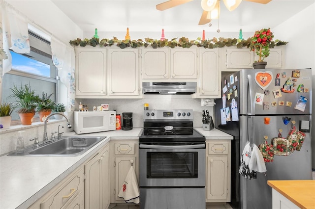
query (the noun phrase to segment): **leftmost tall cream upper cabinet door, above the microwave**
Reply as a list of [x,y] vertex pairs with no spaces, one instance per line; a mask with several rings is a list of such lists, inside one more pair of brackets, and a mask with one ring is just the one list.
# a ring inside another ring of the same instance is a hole
[[106,95],[106,49],[76,50],[76,95]]

